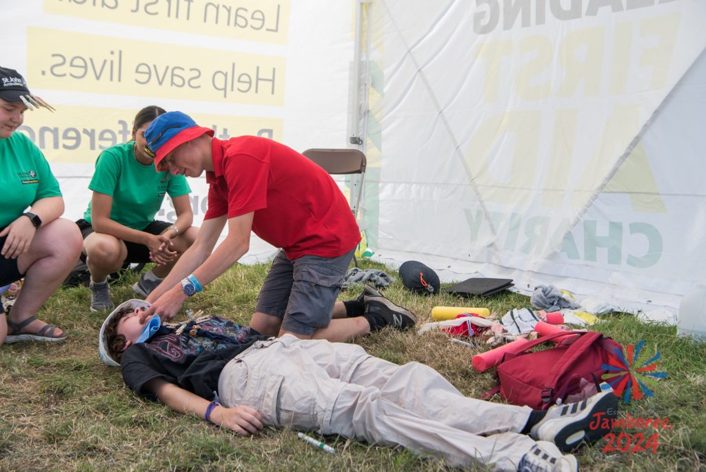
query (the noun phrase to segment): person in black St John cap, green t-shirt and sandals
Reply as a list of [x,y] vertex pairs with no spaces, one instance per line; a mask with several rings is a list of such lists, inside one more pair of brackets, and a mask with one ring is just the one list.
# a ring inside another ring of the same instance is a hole
[[25,278],[9,314],[0,305],[0,345],[66,338],[35,315],[81,250],[76,225],[59,218],[64,199],[49,163],[27,135],[16,132],[25,110],[40,107],[53,110],[30,93],[18,71],[0,67],[0,286]]

